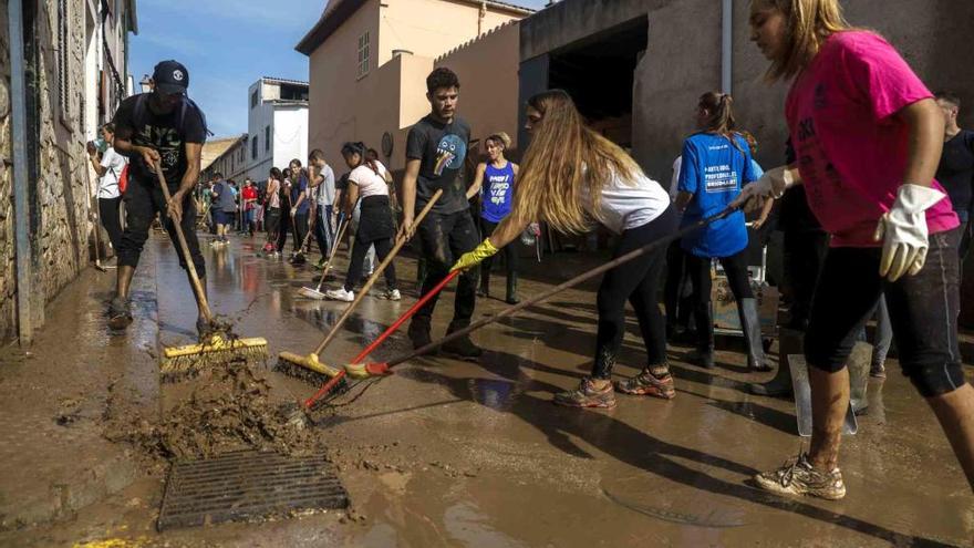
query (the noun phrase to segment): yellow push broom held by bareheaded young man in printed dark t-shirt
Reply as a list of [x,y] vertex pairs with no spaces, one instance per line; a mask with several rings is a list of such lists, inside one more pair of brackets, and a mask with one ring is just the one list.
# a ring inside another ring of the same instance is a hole
[[[436,205],[439,200],[439,197],[443,195],[443,190],[436,190],[436,194],[429,198],[429,201],[419,211],[419,215],[416,216],[416,220],[413,223],[414,226],[418,226],[419,223],[423,221],[423,218],[426,217],[426,214]],[[274,366],[274,370],[280,371],[282,373],[287,373],[291,376],[296,376],[298,379],[304,379],[312,383],[320,383],[327,381],[331,383],[331,386],[338,384],[342,378],[344,376],[344,371],[334,369],[327,363],[323,363],[319,360],[319,355],[328,344],[339,334],[342,325],[344,325],[345,321],[349,317],[352,316],[352,312],[359,306],[360,302],[369,294],[369,290],[372,289],[372,286],[379,280],[379,277],[382,276],[382,272],[385,268],[392,262],[393,258],[398,254],[400,249],[406,244],[406,238],[400,238],[395,246],[393,246],[392,250],[385,257],[385,259],[379,265],[372,276],[369,277],[369,281],[365,282],[365,286],[359,291],[359,294],[355,296],[355,300],[352,301],[351,304],[345,308],[342,316],[335,322],[335,324],[331,328],[331,331],[328,332],[327,335],[321,340],[318,347],[308,355],[300,355],[293,352],[281,352],[278,354],[278,363]],[[333,383],[332,383],[333,381]]]

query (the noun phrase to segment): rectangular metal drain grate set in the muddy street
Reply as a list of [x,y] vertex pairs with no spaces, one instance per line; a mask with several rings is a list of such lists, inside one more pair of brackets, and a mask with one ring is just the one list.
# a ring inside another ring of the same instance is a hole
[[241,451],[173,464],[158,530],[349,506],[324,456]]

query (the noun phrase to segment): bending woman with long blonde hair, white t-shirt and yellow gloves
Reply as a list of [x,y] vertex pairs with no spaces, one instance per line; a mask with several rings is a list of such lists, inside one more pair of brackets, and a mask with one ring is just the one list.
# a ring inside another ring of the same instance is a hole
[[[620,147],[586,127],[568,93],[551,90],[528,100],[531,134],[515,192],[514,207],[494,232],[454,265],[470,269],[518,238],[535,219],[561,232],[583,234],[594,223],[621,235],[613,257],[659,240],[676,229],[670,195],[646,177]],[[666,327],[656,304],[665,247],[609,270],[599,286],[598,335],[591,376],[577,390],[556,394],[572,407],[614,407],[612,366],[625,334],[625,301],[639,319],[646,349],[642,372],[616,384],[628,394],[672,399],[666,361]]]

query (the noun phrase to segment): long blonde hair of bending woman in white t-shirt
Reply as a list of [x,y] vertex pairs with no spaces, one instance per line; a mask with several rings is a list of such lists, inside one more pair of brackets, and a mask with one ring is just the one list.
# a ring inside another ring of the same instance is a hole
[[[525,151],[512,214],[519,219],[542,219],[561,232],[588,231],[592,217],[601,220],[602,187],[613,176],[635,182],[642,169],[625,151],[586,127],[564,91],[539,93],[528,105],[541,114],[542,122]],[[584,199],[592,205],[591,217]]]

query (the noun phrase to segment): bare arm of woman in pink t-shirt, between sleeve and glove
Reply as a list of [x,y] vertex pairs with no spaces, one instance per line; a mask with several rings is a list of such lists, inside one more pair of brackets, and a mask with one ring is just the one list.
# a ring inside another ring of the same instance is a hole
[[903,183],[931,186],[943,152],[943,114],[932,99],[918,101],[894,116],[910,130],[910,153]]

